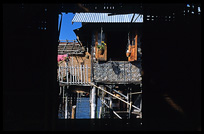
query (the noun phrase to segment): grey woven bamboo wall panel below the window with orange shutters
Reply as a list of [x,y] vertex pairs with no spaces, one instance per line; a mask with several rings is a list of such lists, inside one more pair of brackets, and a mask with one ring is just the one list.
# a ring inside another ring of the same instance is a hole
[[109,61],[94,64],[94,80],[110,83],[134,83],[142,80],[141,63],[128,61]]

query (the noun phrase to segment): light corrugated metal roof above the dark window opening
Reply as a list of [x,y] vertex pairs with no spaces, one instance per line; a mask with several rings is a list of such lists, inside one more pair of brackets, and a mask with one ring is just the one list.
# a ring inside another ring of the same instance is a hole
[[[134,13],[110,15],[111,13],[76,13],[72,22],[86,22],[86,23],[131,23]],[[132,23],[142,23],[143,15],[136,14]]]

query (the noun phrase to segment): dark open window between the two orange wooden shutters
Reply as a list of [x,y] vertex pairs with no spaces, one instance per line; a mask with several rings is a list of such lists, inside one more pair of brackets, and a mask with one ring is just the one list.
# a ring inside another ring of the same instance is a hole
[[108,60],[112,61],[127,61],[127,32],[114,31],[107,33]]

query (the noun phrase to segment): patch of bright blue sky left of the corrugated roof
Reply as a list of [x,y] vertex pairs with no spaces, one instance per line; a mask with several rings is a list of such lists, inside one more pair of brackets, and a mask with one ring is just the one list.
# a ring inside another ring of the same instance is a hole
[[[60,37],[59,40],[74,40],[76,39],[76,35],[74,33],[74,29],[80,28],[81,23],[75,22],[72,25],[72,19],[74,17],[73,13],[62,13],[62,25],[61,25],[61,31],[60,31]],[[59,15],[59,22],[61,19],[61,15]],[[58,23],[59,24],[59,23]],[[58,26],[59,27],[59,26]]]

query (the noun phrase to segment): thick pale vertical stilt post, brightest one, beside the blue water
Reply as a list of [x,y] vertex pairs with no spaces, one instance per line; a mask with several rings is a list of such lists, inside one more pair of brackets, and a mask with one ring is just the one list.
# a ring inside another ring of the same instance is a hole
[[91,119],[96,117],[96,88],[91,89]]

